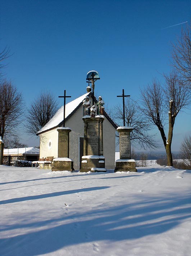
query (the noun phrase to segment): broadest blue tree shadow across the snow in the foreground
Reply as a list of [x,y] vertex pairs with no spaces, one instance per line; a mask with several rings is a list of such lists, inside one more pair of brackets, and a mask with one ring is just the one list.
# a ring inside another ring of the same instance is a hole
[[[28,224],[22,224],[21,221],[21,224],[9,225],[9,228],[28,228],[30,231],[1,239],[1,253],[4,255],[9,252],[9,255],[12,255],[14,252],[14,255],[20,256],[41,255],[75,244],[100,240],[131,240],[161,234],[191,217],[190,200],[189,192],[184,196],[139,195],[135,202],[120,206],[108,207],[103,203],[93,209],[90,208],[87,212],[82,212],[82,206],[80,213],[73,213],[70,216]],[[59,224],[60,222],[62,224]],[[44,230],[31,231],[34,227]]]

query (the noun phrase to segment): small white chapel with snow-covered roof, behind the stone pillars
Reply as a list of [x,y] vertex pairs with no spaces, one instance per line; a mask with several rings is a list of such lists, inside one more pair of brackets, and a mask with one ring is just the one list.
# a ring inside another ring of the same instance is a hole
[[[74,169],[81,168],[83,156],[84,122],[83,100],[89,97],[92,103],[92,92],[88,92],[65,105],[65,127],[72,131],[69,134],[69,157],[74,161]],[[94,98],[94,101],[97,100]],[[61,107],[56,114],[46,123],[37,135],[40,136],[40,158],[53,156],[58,157],[58,127],[63,127],[64,109]],[[116,123],[104,111],[103,122],[103,148],[105,157],[105,168],[115,168],[115,131]]]

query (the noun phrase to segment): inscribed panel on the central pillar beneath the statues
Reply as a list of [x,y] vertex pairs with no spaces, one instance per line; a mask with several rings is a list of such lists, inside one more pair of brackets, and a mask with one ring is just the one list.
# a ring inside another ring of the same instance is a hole
[[99,124],[89,122],[87,127],[87,154],[99,155]]

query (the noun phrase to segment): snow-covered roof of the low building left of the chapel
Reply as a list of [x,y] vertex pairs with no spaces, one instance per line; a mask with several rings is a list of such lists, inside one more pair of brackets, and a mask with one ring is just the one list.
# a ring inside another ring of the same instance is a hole
[[40,149],[39,148],[6,148],[3,150],[3,155],[39,155]]

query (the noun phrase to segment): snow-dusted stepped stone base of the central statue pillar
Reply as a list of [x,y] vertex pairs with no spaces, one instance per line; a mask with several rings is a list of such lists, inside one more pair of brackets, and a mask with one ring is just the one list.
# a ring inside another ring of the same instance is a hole
[[104,156],[82,156],[80,172],[106,172]]

